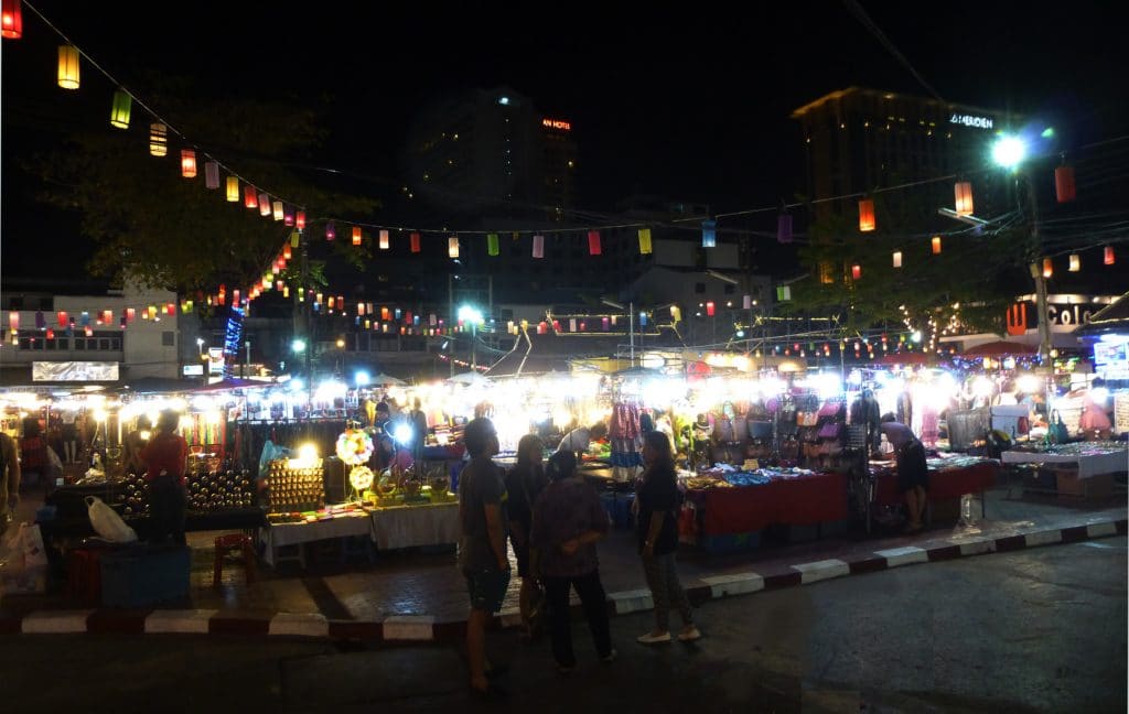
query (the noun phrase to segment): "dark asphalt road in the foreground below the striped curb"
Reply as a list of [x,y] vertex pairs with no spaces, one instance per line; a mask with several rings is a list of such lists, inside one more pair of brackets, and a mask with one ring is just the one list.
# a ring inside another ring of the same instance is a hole
[[[1126,538],[914,565],[707,602],[697,646],[647,649],[649,614],[613,618],[620,659],[575,629],[569,679],[545,646],[491,635],[511,706],[539,712],[1124,712]],[[220,636],[5,636],[18,712],[463,711],[449,645]],[[487,707],[479,707],[485,709]],[[508,707],[497,707],[506,709]]]

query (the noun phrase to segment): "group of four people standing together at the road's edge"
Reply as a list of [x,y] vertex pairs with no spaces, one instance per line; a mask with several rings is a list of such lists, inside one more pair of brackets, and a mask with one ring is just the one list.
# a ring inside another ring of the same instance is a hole
[[[587,447],[598,426],[572,430],[544,462],[544,442],[536,434],[518,443],[517,465],[504,474],[491,457],[498,453],[493,423],[478,417],[463,435],[471,460],[460,477],[458,565],[466,579],[471,614],[466,625],[471,691],[481,698],[505,696],[496,678],[502,668],[485,655],[485,626],[501,609],[510,581],[508,544],[522,579],[520,637],[537,640],[535,610],[543,593],[549,638],[558,671],[569,676],[577,661],[572,649],[569,596],[576,591],[601,662],[615,661],[606,594],[599,578],[596,544],[609,532],[607,512],[594,486],[577,473],[577,451]],[[637,641],[645,645],[671,642],[669,612],[677,610],[677,640],[702,636],[679,581],[677,510],[682,503],[674,451],[666,433],[642,434],[645,468],[636,484],[636,521],[640,563],[655,602],[655,626]]]

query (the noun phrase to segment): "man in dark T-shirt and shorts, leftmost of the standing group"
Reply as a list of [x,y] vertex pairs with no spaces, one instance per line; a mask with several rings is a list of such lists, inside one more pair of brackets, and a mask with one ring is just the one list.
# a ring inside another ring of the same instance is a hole
[[466,578],[471,614],[466,620],[466,660],[471,670],[471,693],[496,699],[506,691],[491,677],[487,661],[487,620],[501,609],[509,587],[506,553],[506,484],[501,469],[490,457],[498,453],[498,432],[488,418],[471,420],[463,432],[470,462],[458,478],[458,566]]

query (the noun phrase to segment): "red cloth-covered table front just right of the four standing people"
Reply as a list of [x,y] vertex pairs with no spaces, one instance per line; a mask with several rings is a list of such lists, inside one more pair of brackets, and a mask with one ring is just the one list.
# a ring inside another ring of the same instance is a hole
[[772,478],[754,486],[694,490],[688,495],[703,510],[703,536],[749,534],[772,523],[829,523],[848,517],[847,476],[831,471]]

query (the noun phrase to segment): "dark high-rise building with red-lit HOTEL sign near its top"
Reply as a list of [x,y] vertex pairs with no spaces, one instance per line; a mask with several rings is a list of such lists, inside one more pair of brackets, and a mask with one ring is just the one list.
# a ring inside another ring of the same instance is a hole
[[506,87],[452,95],[421,112],[404,164],[410,191],[456,215],[560,221],[576,201],[571,123]]

